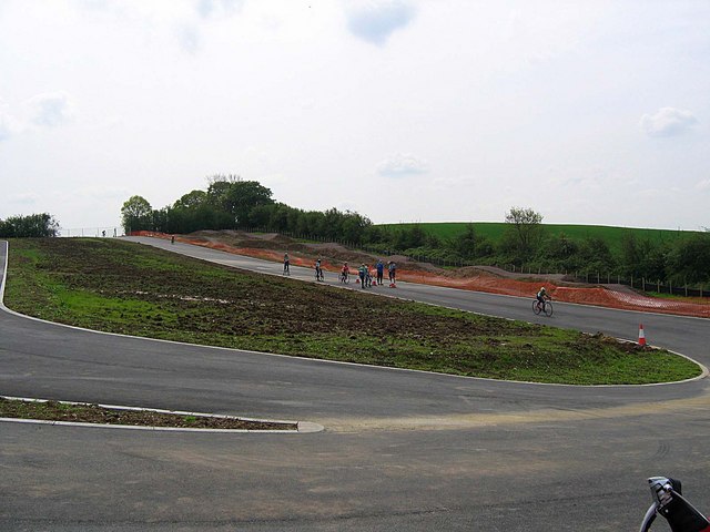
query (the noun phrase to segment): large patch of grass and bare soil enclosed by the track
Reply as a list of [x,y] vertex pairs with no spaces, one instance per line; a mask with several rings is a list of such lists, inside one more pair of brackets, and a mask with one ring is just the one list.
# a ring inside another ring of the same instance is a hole
[[118,239],[10,242],[6,304],[111,332],[455,375],[646,383],[700,369],[667,351],[314,286]]

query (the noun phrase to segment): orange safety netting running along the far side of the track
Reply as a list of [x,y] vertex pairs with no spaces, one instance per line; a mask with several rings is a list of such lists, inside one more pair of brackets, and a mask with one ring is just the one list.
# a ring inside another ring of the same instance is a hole
[[[156,238],[171,238],[171,235],[154,232],[134,232],[132,236],[152,236]],[[246,255],[266,260],[282,262],[283,254],[271,249],[258,249],[248,247],[232,247],[226,244],[207,242],[201,239],[192,239],[185,237],[175,237],[178,242],[194,244],[197,246],[209,247],[211,249],[220,249],[237,255]],[[291,264],[295,266],[312,267],[311,258],[298,256],[290,257]],[[339,265],[322,262],[322,267],[329,272],[339,272]],[[445,286],[449,288],[460,288],[465,290],[485,291],[489,294],[503,294],[508,296],[535,297],[539,289],[539,282],[526,282],[516,279],[506,279],[493,276],[475,276],[467,278],[452,278],[437,275],[429,272],[412,272],[397,268],[397,279],[409,283],[419,283],[426,285]],[[673,299],[653,298],[641,296],[630,291],[615,290],[606,287],[569,287],[558,286],[552,282],[546,280],[546,288],[552,295],[554,300],[565,303],[578,303],[582,305],[596,305],[609,308],[619,308],[623,310],[640,310],[649,313],[677,314],[682,316],[696,316],[701,318],[710,318],[710,301],[696,299],[694,301],[680,301]]]

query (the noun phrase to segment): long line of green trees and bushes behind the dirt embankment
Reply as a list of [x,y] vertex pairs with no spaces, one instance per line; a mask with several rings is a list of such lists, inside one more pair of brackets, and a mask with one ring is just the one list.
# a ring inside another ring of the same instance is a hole
[[356,212],[292,207],[274,201],[272,191],[258,182],[235,175],[215,175],[207,182],[206,191],[194,190],[160,209],[153,209],[141,196],[132,196],[121,209],[126,234],[260,228],[449,264],[509,264],[530,270],[602,273],[674,284],[710,282],[709,233],[690,233],[672,243],[657,243],[629,232],[620,249],[612,250],[599,237],[548,235],[540,213],[511,207],[505,217],[506,231],[495,242],[479,235],[473,224],[454,237],[440,238],[418,224],[383,227]]

